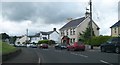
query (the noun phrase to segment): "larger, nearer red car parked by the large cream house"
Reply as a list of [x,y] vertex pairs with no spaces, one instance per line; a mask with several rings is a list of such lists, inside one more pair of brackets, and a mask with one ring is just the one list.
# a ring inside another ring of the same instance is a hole
[[67,46],[67,50],[82,50],[82,51],[85,51],[85,45],[83,43],[80,43],[80,42],[75,42],[73,43],[72,45],[68,45]]

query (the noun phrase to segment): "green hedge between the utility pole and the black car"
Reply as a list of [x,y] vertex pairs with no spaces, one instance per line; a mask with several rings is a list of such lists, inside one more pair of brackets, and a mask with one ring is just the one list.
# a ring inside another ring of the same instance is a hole
[[105,43],[111,36],[98,36],[93,37],[91,40],[86,40],[85,43],[93,46],[100,46],[102,43]]

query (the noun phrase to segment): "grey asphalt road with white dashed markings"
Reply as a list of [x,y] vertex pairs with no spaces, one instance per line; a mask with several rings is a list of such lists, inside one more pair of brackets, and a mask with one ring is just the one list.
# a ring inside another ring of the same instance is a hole
[[[67,51],[39,48],[21,48],[22,53],[3,63],[78,63],[81,65],[118,65],[119,54],[102,53],[100,50]],[[4,65],[4,64],[3,64]]]

